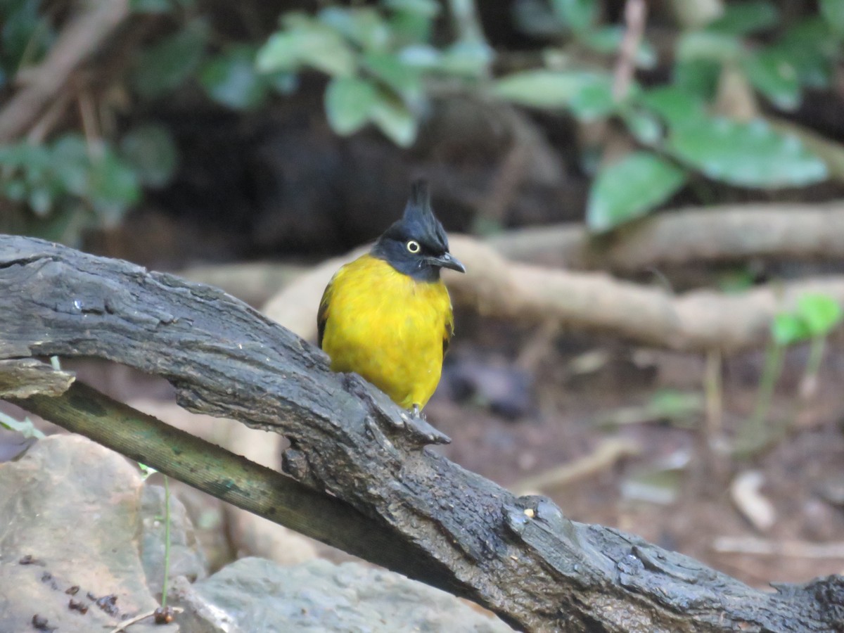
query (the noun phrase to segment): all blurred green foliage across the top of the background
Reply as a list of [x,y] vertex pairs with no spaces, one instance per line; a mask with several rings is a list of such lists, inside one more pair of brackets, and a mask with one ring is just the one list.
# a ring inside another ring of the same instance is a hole
[[[729,81],[738,82],[788,112],[801,106],[807,89],[830,89],[844,40],[839,0],[820,0],[789,23],[771,0],[725,3],[709,24],[680,27],[670,68],[644,38],[632,62],[659,72],[625,94],[613,73],[625,29],[606,21],[599,0],[512,3],[513,25],[542,47],[525,57],[528,64],[517,57],[523,51],[493,51],[473,21],[472,2],[320,6],[314,14],[284,13],[268,36],[237,38],[223,34],[195,0],[131,0],[134,12],[154,15],[166,28],[133,57],[127,86],[150,105],[192,86],[221,106],[253,111],[317,73],[327,79],[325,116],[335,133],[374,126],[402,147],[414,143],[443,86],[578,122],[618,123],[630,154],[597,169],[582,162],[595,172],[587,212],[595,232],[649,213],[689,183],[695,191],[706,181],[776,189],[827,177],[824,160],[798,138],[772,127],[758,108],[743,116],[724,111],[721,97]],[[50,50],[54,19],[42,0],[0,4],[0,89]],[[164,128],[101,136],[86,142],[84,153],[78,137],[3,148],[3,197],[25,209],[25,225],[73,241],[85,226],[119,219],[142,187],[164,187],[178,166]],[[64,143],[73,151],[68,165],[58,165]]]

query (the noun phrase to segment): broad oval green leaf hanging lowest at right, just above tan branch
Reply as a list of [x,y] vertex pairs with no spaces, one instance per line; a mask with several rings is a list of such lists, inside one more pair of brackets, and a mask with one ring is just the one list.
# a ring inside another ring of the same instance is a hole
[[634,152],[598,174],[589,192],[587,226],[603,232],[647,214],[684,185],[684,170],[650,152]]

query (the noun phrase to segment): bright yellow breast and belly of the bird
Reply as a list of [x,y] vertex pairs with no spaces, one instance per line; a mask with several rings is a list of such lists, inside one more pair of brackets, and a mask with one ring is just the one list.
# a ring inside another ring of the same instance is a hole
[[453,327],[445,284],[416,281],[364,255],[334,275],[319,320],[333,371],[359,373],[404,408],[425,406]]

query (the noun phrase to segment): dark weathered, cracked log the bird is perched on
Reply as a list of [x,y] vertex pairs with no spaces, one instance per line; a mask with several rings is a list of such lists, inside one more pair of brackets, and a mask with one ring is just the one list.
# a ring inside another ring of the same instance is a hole
[[288,436],[295,479],[371,517],[431,574],[444,571],[452,592],[520,628],[828,631],[844,622],[840,576],[756,591],[450,463],[424,448],[444,441],[436,430],[359,376],[328,371],[319,350],[219,290],[0,236],[0,315],[0,358],[114,360],[164,376],[192,411]]

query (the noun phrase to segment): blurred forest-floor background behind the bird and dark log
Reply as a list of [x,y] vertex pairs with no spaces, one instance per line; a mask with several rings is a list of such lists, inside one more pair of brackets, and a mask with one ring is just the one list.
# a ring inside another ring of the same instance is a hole
[[[425,176],[469,269],[426,408],[447,457],[757,586],[844,571],[840,0],[3,0],[0,24],[0,231],[313,340]],[[278,466],[165,383],[67,365]],[[212,568],[284,558],[178,494]]]

